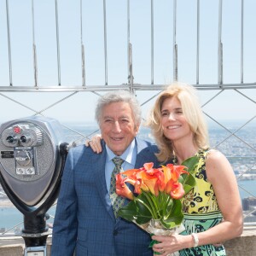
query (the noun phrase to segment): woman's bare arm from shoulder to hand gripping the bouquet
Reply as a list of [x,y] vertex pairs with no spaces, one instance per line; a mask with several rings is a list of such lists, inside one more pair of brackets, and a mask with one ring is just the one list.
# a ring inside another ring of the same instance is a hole
[[[224,220],[209,230],[197,233],[198,246],[218,244],[241,236],[243,229],[241,199],[230,162],[224,154],[212,150],[207,156],[206,169],[207,178],[212,183]],[[163,256],[195,245],[195,239],[191,235],[153,236],[152,238],[160,241],[159,244],[154,245],[154,250],[165,251],[162,253]]]

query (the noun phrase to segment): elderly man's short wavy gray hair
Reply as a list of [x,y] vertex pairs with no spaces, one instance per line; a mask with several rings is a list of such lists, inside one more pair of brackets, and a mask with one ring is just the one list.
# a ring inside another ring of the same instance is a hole
[[133,114],[135,125],[141,123],[142,111],[136,96],[131,94],[128,90],[115,90],[101,96],[96,105],[95,118],[100,125],[102,118],[102,110],[105,106],[113,102],[127,102],[130,105],[131,113]]

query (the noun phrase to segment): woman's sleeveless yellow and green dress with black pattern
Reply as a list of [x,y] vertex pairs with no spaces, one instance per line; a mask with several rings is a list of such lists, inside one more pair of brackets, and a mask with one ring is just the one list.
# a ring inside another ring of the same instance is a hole
[[[183,198],[183,225],[185,231],[181,235],[200,233],[208,230],[222,221],[222,214],[218,208],[218,202],[212,188],[207,180],[206,157],[209,151],[199,151],[196,155],[200,157],[198,169],[195,172],[196,186]],[[224,256],[223,246],[214,247],[204,245],[179,251],[180,256]]]

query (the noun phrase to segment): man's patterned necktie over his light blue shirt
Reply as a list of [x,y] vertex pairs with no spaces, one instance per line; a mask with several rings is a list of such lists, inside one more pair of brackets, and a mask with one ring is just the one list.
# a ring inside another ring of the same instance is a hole
[[111,179],[110,179],[110,189],[109,189],[109,195],[110,195],[110,200],[113,208],[113,213],[115,218],[117,218],[117,212],[119,211],[119,208],[123,206],[125,202],[125,198],[122,196],[119,196],[115,192],[115,176],[121,172],[122,170],[122,164],[124,160],[120,159],[119,157],[114,157],[113,158],[113,164],[114,164],[114,169],[111,174]]

